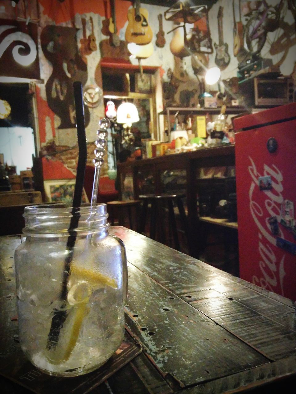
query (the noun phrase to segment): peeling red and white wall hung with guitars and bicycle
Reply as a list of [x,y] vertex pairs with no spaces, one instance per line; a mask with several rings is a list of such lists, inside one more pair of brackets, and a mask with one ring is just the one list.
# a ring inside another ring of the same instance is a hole
[[[5,46],[0,78],[22,77],[26,69],[35,82],[41,147],[52,141],[56,146],[75,144],[75,80],[82,82],[90,99],[85,105],[86,134],[88,141],[94,141],[104,105],[102,95],[92,89],[102,87],[103,58],[113,59],[118,69],[123,63],[137,65],[140,76],[145,66],[159,67],[163,106],[157,112],[167,106],[196,107],[205,89],[204,67],[216,65],[228,83],[260,73],[295,81],[294,0],[207,3],[155,6],[139,0],[56,0],[52,5],[36,0],[28,8],[24,0],[16,7],[0,1],[0,44]],[[19,50],[20,41],[25,50]],[[142,78],[136,80],[142,89]],[[240,96],[238,85],[230,83]]]

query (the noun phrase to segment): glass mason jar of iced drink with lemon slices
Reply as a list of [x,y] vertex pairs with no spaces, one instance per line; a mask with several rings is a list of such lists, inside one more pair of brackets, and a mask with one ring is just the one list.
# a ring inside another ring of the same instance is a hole
[[126,251],[107,217],[106,204],[78,214],[63,204],[24,210],[26,240],[15,251],[19,339],[46,374],[96,370],[122,343]]

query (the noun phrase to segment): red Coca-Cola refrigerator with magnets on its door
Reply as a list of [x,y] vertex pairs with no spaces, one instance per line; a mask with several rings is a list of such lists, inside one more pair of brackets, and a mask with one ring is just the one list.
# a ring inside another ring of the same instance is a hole
[[296,103],[233,119],[240,277],[296,300]]

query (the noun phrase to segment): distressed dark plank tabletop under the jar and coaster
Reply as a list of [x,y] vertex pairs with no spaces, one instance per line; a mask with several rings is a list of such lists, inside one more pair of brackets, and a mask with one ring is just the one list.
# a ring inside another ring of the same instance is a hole
[[[109,231],[126,246],[126,335],[143,351],[89,392],[267,393],[273,392],[271,388],[294,392],[294,301],[132,230],[118,226]],[[0,356],[13,355],[19,347],[13,341],[17,333],[13,255],[21,242],[21,236],[0,237]],[[11,320],[13,328],[7,331]],[[34,392],[51,392],[51,379],[54,383],[57,378],[47,377],[47,390]],[[59,379],[54,392],[77,392],[67,385],[71,379]],[[7,393],[30,392],[4,378],[0,383]]]

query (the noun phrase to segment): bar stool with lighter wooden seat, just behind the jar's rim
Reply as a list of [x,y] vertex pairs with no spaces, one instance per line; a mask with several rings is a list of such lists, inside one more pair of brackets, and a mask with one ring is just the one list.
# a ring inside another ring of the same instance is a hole
[[118,212],[118,224],[120,226],[124,226],[124,211],[127,210],[129,217],[129,228],[133,230],[133,219],[131,208],[135,207],[136,209],[136,231],[139,230],[138,225],[138,207],[142,203],[141,200],[127,200],[127,201],[108,201],[107,202],[107,210],[110,214],[111,225],[114,226],[114,212],[117,210]]

